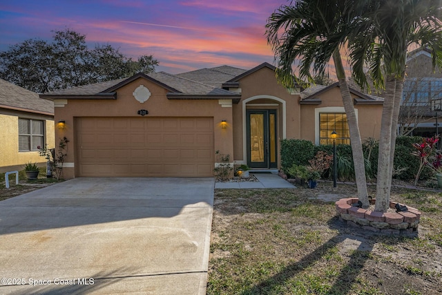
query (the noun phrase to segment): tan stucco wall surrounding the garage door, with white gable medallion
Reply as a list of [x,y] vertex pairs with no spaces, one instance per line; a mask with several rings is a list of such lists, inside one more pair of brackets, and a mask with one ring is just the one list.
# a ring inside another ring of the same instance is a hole
[[[135,89],[143,85],[151,92],[151,97],[140,103],[133,97]],[[75,117],[142,117],[140,109],[146,109],[144,117],[213,117],[214,148],[220,153],[233,155],[233,117],[231,107],[222,107],[218,99],[167,99],[166,89],[151,81],[140,78],[119,88],[117,99],[70,99],[63,107],[55,101],[55,122],[66,121],[66,128],[55,129],[55,137],[66,136],[68,155],[66,156],[64,178],[75,177]],[[220,122],[227,121],[222,129]]]

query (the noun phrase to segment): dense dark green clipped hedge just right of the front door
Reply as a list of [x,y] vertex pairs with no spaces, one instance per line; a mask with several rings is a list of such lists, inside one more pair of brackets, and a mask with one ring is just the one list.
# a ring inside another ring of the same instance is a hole
[[314,144],[309,140],[281,140],[281,166],[286,173],[293,164],[307,165],[314,157]]

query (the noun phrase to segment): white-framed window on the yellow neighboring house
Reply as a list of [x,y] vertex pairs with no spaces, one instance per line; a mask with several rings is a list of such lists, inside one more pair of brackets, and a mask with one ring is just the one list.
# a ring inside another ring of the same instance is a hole
[[19,118],[19,151],[37,151],[44,144],[44,121]]

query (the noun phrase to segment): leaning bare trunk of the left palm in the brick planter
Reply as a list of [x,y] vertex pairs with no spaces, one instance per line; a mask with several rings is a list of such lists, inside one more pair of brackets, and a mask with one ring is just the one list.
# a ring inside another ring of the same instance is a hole
[[358,198],[363,204],[363,208],[369,207],[367,179],[365,178],[365,161],[362,149],[361,134],[359,133],[358,120],[354,111],[352,95],[350,94],[347,80],[345,79],[345,70],[340,57],[339,50],[336,49],[333,54],[336,75],[339,80],[340,94],[343,97],[345,113],[350,131],[350,143],[352,144],[354,175],[356,178],[356,187],[358,187]]

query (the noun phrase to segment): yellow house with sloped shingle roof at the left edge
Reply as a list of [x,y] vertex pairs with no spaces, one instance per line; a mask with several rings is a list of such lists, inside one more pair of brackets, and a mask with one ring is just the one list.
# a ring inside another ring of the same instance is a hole
[[37,146],[54,147],[54,103],[0,79],[0,172],[44,163]]

